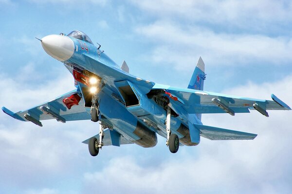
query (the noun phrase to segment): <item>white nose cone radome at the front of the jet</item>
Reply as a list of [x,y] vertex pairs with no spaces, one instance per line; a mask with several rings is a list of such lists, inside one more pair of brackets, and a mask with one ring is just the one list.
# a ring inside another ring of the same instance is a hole
[[74,42],[68,36],[45,36],[41,39],[41,46],[46,53],[62,62],[70,59],[74,53]]

